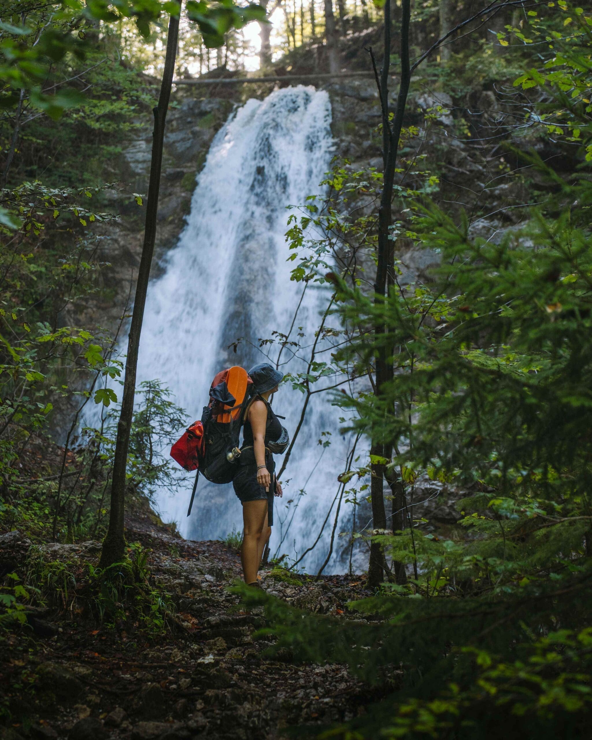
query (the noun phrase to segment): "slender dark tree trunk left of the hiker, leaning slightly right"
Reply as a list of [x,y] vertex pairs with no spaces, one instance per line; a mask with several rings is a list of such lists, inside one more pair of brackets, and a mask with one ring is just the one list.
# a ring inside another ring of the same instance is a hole
[[[179,7],[181,13],[181,7]],[[138,271],[138,282],[135,286],[134,309],[132,323],[129,327],[127,345],[127,359],[125,363],[124,394],[121,399],[121,413],[117,425],[117,440],[115,441],[115,458],[113,460],[113,477],[111,485],[111,509],[109,514],[109,528],[101,551],[101,568],[108,568],[115,562],[124,559],[124,512],[127,451],[129,448],[129,432],[132,426],[135,397],[135,376],[138,369],[138,350],[144,306],[148,292],[150,266],[156,238],[156,215],[158,212],[158,191],[161,184],[162,150],[164,144],[164,124],[166,111],[169,107],[172,77],[175,72],[175,58],[179,36],[179,16],[170,16],[169,33],[166,37],[166,57],[164,73],[161,83],[161,93],[158,96],[158,105],[154,112],[154,130],[152,132],[152,161],[150,163],[150,181],[148,186],[148,201],[146,204],[146,223],[144,226],[144,244]]]

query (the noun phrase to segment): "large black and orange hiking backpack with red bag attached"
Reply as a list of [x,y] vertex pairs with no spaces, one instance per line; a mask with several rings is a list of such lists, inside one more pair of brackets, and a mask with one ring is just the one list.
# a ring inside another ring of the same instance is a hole
[[201,421],[192,423],[172,445],[171,457],[185,470],[197,470],[188,517],[200,471],[212,483],[229,483],[235,477],[238,438],[251,382],[246,370],[238,366],[219,372],[209,388],[209,403],[203,407]]

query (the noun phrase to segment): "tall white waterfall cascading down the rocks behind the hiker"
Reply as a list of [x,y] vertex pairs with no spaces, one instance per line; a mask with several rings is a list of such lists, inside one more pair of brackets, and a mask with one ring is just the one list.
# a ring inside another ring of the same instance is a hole
[[[286,206],[321,192],[333,151],[330,124],[325,91],[289,87],[263,101],[247,101],[212,143],[178,245],[162,265],[164,274],[150,283],[138,364],[138,383],[159,378],[175,403],[186,409],[189,421],[201,417],[216,372],[231,365],[249,369],[266,361],[263,353],[275,363],[279,346],[260,348],[258,340],[271,337],[273,330],[289,332],[303,291],[303,283],[290,280],[293,263],[286,261]],[[304,346],[312,345],[327,300],[325,288],[309,284],[294,329],[303,336],[293,337]],[[300,358],[291,354],[283,351],[280,369],[305,371],[309,350]],[[330,385],[331,378],[326,382]],[[286,417],[290,434],[303,400],[300,391],[287,385],[275,394],[274,409]],[[272,555],[296,559],[319,534],[352,443],[349,435],[340,434],[340,413],[329,394],[315,394],[309,403],[282,476],[283,499],[275,499]],[[331,445],[324,450],[318,444],[322,431],[331,432]],[[276,465],[279,470],[281,457]],[[203,477],[186,518],[193,478],[184,475],[174,496],[158,494],[163,519],[175,521],[191,539],[241,531],[242,509],[232,484],[213,485]],[[320,542],[300,564],[306,571],[315,572],[329,552],[335,511],[336,505]],[[345,569],[349,538],[338,535],[349,528],[351,505],[342,504],[326,573]]]

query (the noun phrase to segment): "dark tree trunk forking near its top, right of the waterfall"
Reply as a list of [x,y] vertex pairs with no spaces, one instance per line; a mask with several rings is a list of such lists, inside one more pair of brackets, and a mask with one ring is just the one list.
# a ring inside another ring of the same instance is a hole
[[[380,197],[380,207],[378,210],[378,255],[376,282],[374,283],[374,300],[376,303],[382,303],[386,295],[387,285],[394,279],[392,275],[394,244],[389,238],[392,225],[392,199],[394,170],[397,165],[397,153],[399,150],[399,140],[401,129],[403,128],[403,115],[407,102],[409,90],[409,81],[411,73],[409,70],[409,19],[410,19],[410,0],[403,0],[401,6],[401,78],[399,84],[399,93],[397,95],[397,107],[394,111],[392,126],[388,120],[388,67],[391,57],[391,0],[386,0],[384,6],[384,56],[383,67],[380,70],[380,78],[376,71],[377,85],[380,94],[380,105],[383,118],[383,192]],[[390,274],[390,279],[389,279]],[[386,327],[383,323],[377,323],[374,326],[374,333],[377,336],[385,333]],[[376,358],[376,383],[375,394],[380,397],[383,387],[393,375],[393,365],[391,351],[382,343]],[[374,428],[372,431],[371,454],[377,457],[386,457],[385,452],[390,454],[390,445],[388,450],[382,438],[380,428]],[[371,503],[372,517],[374,519],[374,529],[386,529],[386,511],[384,505],[383,480],[384,465],[375,462],[371,466]],[[384,554],[378,542],[371,542],[370,545],[370,562],[368,567],[368,584],[371,588],[380,585],[384,578]]]

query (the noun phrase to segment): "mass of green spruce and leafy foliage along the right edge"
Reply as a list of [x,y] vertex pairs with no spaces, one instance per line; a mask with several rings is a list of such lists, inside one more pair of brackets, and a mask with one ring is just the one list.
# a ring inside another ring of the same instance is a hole
[[[395,277],[375,302],[333,277],[337,312],[361,328],[337,360],[371,366],[382,347],[394,363],[383,394],[354,393],[346,405],[355,428],[380,428],[394,449],[384,463],[412,526],[373,537],[414,577],[350,605],[380,622],[304,616],[246,595],[265,603],[278,644],[300,659],[400,682],[368,716],[323,737],[588,733],[592,18],[560,3],[532,31],[546,58],[514,84],[541,93],[527,121],[574,150],[576,171],[560,176],[530,155],[546,181],[542,203],[497,239],[477,235],[468,215],[418,201],[407,235],[440,255],[431,284]],[[377,324],[382,334],[364,331]],[[465,491],[454,537],[425,534],[408,514],[420,477]]]

